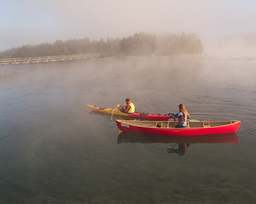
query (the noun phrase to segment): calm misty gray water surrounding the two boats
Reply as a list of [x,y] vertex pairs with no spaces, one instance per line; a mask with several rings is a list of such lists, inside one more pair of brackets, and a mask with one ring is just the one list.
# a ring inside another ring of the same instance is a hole
[[[253,203],[256,61],[131,58],[0,67],[0,203]],[[115,107],[241,120],[201,139],[117,134]],[[179,142],[183,156],[167,153]]]

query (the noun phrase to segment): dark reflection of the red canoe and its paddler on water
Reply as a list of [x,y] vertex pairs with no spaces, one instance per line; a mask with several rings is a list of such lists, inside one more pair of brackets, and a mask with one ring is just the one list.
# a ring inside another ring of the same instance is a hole
[[161,136],[150,134],[137,134],[122,132],[117,137],[117,143],[171,143],[178,144],[174,148],[167,149],[168,153],[176,153],[179,156],[186,154],[191,144],[239,144],[238,134],[208,134],[196,136]]

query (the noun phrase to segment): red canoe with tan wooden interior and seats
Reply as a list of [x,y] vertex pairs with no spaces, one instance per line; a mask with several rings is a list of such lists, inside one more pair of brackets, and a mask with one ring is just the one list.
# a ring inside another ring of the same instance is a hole
[[198,121],[188,122],[186,128],[175,128],[174,121],[137,121],[117,119],[117,127],[121,131],[142,134],[192,136],[203,134],[233,133],[240,127],[240,121]]

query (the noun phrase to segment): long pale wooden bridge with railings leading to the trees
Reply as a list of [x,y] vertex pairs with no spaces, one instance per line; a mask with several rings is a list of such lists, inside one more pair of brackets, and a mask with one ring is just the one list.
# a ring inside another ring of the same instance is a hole
[[63,60],[79,60],[86,58],[100,58],[105,56],[104,53],[85,53],[75,55],[55,55],[34,58],[0,58],[0,65],[20,64],[20,63],[47,63]]

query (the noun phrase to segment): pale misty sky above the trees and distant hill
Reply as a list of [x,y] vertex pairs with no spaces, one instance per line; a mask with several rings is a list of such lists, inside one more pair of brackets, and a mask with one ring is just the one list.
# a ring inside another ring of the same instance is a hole
[[1,0],[0,51],[74,38],[256,32],[255,0]]

